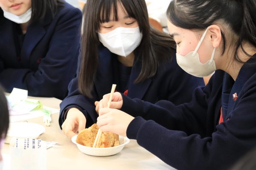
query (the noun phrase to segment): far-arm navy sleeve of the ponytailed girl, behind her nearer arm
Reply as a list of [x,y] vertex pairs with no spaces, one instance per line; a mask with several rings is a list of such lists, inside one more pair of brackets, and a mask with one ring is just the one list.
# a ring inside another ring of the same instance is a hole
[[196,88],[192,96],[192,102],[178,106],[167,100],[160,100],[154,105],[140,99],[130,99],[122,94],[123,105],[121,110],[134,117],[142,116],[146,120],[154,120],[168,129],[183,130],[188,134],[201,133],[203,135],[204,120],[207,116],[205,114],[207,112],[207,96],[210,92],[209,85],[206,87]]

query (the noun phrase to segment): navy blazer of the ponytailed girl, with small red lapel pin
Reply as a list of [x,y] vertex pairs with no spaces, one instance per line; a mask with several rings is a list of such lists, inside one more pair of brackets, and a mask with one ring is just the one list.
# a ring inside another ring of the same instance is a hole
[[[227,170],[256,146],[255,64],[255,58],[248,60],[236,82],[215,71],[205,88],[195,89],[191,102],[178,106],[123,95],[121,110],[135,117],[128,138],[178,170]],[[224,122],[219,124],[221,107]]]

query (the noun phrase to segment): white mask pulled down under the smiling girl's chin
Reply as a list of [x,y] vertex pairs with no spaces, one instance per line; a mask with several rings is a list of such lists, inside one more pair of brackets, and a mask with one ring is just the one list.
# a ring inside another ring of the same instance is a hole
[[3,16],[6,17],[8,20],[11,20],[17,24],[23,24],[29,22],[31,19],[32,9],[29,8],[24,14],[17,16],[15,14],[12,14],[10,12],[3,10]]

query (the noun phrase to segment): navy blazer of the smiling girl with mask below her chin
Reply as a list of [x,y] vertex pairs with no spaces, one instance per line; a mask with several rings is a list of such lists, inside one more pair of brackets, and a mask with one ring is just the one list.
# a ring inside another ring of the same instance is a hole
[[78,8],[64,2],[53,19],[49,14],[28,26],[17,56],[17,24],[0,10],[0,83],[6,91],[21,88],[30,96],[64,99],[76,74],[81,18]]

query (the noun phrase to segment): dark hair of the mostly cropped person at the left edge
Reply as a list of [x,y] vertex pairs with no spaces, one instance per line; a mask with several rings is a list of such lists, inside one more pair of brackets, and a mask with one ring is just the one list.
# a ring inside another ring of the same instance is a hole
[[9,110],[3,88],[0,87],[0,140],[6,137],[9,127]]

